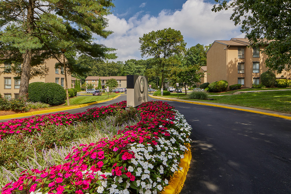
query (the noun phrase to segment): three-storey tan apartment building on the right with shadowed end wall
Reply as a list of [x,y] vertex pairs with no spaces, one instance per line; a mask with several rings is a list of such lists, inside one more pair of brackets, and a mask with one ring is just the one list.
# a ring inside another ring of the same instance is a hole
[[[259,84],[260,75],[269,69],[265,65],[267,56],[260,52],[265,47],[249,45],[246,38],[215,40],[206,53],[207,82],[226,80],[229,86],[239,83],[248,88]],[[291,73],[283,71],[276,74],[276,78],[291,79]]]

